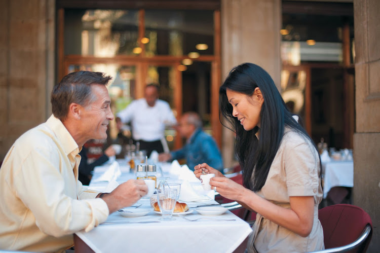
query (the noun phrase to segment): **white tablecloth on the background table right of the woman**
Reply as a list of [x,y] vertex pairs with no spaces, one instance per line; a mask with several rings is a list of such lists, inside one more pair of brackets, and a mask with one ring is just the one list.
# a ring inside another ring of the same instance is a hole
[[336,186],[354,187],[354,162],[331,161],[322,162],[323,171],[323,198],[331,188]]

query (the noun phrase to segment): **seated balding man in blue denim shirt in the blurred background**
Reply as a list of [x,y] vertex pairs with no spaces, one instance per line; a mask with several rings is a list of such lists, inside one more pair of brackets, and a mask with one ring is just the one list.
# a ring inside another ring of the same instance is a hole
[[188,112],[183,114],[177,130],[182,137],[186,138],[185,146],[170,153],[161,153],[159,155],[160,161],[185,158],[187,166],[192,170],[196,165],[205,162],[223,172],[220,151],[215,140],[202,130],[202,120],[197,113]]

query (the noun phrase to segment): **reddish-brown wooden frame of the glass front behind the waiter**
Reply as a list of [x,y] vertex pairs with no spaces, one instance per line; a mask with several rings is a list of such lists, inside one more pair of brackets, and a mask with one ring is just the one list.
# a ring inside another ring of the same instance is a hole
[[[139,24],[144,22],[144,10],[139,10]],[[194,61],[205,61],[211,63],[211,84],[210,84],[210,113],[211,113],[211,130],[213,136],[221,148],[222,128],[219,122],[219,87],[221,82],[221,36],[220,36],[220,10],[214,10],[214,54],[201,55]],[[143,29],[139,29],[139,38],[144,34]],[[117,55],[114,57],[95,57],[82,55],[65,55],[64,54],[64,9],[57,10],[57,83],[67,75],[70,64],[94,64],[94,63],[115,63],[121,65],[136,66],[136,90],[135,97],[143,97],[145,87],[144,75],[148,65],[173,66],[176,69],[176,84],[174,89],[174,106],[177,110],[177,119],[182,115],[182,75],[177,69],[183,59],[188,58],[186,55],[170,56],[157,55],[146,57],[144,54],[144,45],[140,44],[143,49],[139,56]],[[178,138],[177,138],[178,139]],[[181,143],[177,141],[175,147],[178,148]]]

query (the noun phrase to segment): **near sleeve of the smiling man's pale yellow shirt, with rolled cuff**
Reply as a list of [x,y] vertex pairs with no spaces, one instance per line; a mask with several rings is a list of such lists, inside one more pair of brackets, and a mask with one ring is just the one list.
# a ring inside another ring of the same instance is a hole
[[54,151],[53,147],[31,151],[15,171],[12,188],[44,233],[60,237],[91,230],[107,219],[107,205],[100,199],[77,199],[70,163]]

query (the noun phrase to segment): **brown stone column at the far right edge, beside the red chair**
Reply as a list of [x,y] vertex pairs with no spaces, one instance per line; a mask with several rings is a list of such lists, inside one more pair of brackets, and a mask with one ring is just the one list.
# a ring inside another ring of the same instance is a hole
[[380,26],[377,0],[354,0],[356,131],[353,203],[371,216],[367,252],[380,248]]

